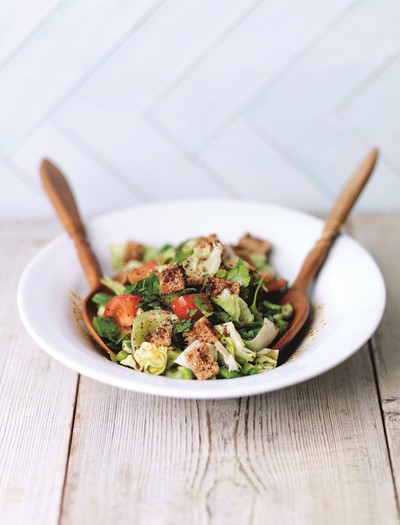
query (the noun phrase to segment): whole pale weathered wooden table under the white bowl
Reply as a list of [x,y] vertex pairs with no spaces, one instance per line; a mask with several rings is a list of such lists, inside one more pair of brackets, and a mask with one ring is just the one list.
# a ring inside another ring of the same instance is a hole
[[400,217],[358,216],[349,230],[386,280],[372,340],[302,385],[196,402],[112,388],[47,357],[15,295],[60,229],[0,223],[0,523],[399,523]]

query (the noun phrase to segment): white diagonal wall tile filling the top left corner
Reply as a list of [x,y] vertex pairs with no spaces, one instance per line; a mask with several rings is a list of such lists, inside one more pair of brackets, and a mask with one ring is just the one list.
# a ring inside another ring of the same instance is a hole
[[0,71],[0,151],[10,153],[156,0],[71,0]]

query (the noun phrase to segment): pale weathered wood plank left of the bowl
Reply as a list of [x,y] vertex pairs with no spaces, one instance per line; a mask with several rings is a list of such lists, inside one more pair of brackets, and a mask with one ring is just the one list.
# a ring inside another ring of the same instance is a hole
[[22,327],[16,307],[22,268],[54,232],[54,226],[43,222],[0,224],[3,525],[52,525],[59,517],[77,375],[39,350]]

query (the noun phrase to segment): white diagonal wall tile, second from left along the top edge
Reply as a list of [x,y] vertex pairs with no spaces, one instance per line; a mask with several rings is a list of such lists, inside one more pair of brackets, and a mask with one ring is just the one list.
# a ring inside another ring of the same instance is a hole
[[130,119],[151,107],[176,77],[221,38],[259,0],[164,2],[59,112],[70,128],[90,139],[104,117]]

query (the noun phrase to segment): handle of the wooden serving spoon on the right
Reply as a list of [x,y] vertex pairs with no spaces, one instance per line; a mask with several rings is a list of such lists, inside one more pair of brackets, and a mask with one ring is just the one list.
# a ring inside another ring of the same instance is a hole
[[322,236],[317,241],[315,247],[307,255],[303,266],[300,269],[299,275],[293,283],[293,288],[296,287],[307,290],[324,262],[336,235],[339,233],[340,227],[347,219],[347,216],[353,208],[357,198],[367,184],[375,167],[377,158],[378,150],[374,148],[356,168],[355,172],[342,189],[331,213],[326,219]]

